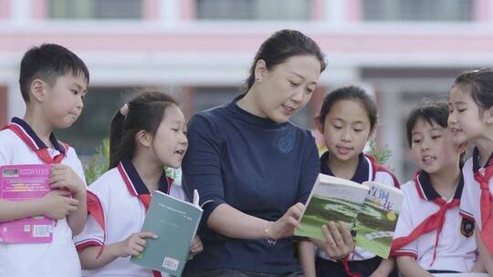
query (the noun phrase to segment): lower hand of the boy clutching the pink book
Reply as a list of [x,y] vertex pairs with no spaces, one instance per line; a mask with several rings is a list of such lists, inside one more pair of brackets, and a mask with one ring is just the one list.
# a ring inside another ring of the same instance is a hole
[[65,219],[68,214],[77,210],[79,200],[71,199],[67,190],[51,190],[41,198],[41,213],[55,220]]

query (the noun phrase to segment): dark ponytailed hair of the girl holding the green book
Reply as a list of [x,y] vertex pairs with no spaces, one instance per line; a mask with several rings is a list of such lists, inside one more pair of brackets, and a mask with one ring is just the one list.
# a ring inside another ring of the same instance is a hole
[[132,159],[135,152],[135,135],[144,130],[154,134],[161,124],[166,108],[176,105],[173,97],[158,91],[143,91],[128,105],[125,115],[118,110],[110,127],[110,169],[121,159]]

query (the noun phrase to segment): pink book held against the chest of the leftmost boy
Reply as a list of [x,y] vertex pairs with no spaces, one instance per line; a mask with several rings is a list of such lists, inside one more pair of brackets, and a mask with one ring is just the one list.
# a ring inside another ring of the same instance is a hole
[[[50,191],[51,165],[7,165],[0,167],[0,199],[31,200]],[[54,220],[37,216],[0,222],[3,243],[46,243],[53,240]]]

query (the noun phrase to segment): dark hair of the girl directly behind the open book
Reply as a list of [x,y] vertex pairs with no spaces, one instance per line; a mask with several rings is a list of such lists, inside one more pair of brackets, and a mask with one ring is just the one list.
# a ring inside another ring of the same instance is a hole
[[339,87],[324,97],[320,108],[320,114],[317,116],[322,128],[325,123],[325,118],[330,112],[330,108],[332,108],[339,100],[360,101],[370,120],[370,133],[373,131],[373,128],[377,123],[377,108],[375,102],[361,87],[356,86]]

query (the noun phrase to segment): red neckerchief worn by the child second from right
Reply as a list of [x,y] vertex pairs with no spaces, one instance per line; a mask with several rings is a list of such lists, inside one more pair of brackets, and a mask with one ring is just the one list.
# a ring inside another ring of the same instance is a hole
[[[422,191],[423,186],[419,181],[420,173],[421,171],[417,171],[416,174],[414,175],[414,185],[416,187],[416,190],[418,191],[419,196],[422,199],[425,199],[424,192]],[[454,198],[452,201],[447,203],[446,200],[444,200],[443,198],[436,197],[433,200],[433,202],[436,205],[438,205],[440,209],[437,210],[435,213],[431,214],[430,216],[428,216],[425,219],[425,221],[421,222],[421,224],[419,224],[408,236],[394,239],[392,242],[391,253],[403,248],[405,245],[411,243],[412,241],[415,241],[421,235],[436,230],[435,247],[433,250],[433,260],[430,263],[430,266],[433,265],[436,259],[436,248],[438,246],[438,238],[440,237],[440,233],[442,232],[444,223],[446,221],[446,210],[458,206],[460,204],[460,199]]]

